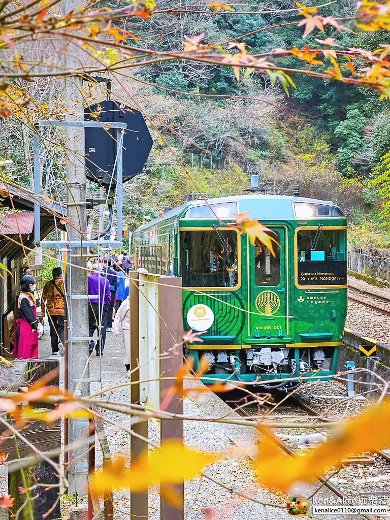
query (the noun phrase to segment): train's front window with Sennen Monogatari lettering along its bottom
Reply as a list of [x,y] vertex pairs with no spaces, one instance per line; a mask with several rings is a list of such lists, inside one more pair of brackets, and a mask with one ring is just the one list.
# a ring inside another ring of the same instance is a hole
[[299,285],[347,283],[346,230],[303,229],[297,232],[297,282]]

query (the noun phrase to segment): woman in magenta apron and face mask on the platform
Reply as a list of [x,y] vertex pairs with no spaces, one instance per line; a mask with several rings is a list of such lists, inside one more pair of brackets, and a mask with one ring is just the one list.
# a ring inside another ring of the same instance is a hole
[[38,337],[43,334],[43,326],[36,317],[35,288],[34,278],[24,275],[20,281],[19,317],[15,320],[15,359],[38,359]]

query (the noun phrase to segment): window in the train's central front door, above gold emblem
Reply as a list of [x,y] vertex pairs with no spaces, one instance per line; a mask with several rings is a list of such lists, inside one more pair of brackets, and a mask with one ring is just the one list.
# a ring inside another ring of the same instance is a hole
[[[280,243],[279,233],[272,235]],[[255,246],[254,270],[257,287],[276,287],[280,284],[280,248],[272,256],[265,245]]]

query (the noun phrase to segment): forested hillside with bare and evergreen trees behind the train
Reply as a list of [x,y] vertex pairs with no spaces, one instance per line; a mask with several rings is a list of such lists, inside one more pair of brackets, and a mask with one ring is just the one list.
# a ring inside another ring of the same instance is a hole
[[[117,4],[106,0],[105,5]],[[305,9],[317,5],[308,0]],[[193,4],[180,16],[172,12],[178,6],[176,0],[165,0],[151,18],[129,17],[120,27],[131,31],[131,41],[156,52],[169,53],[183,43],[185,50],[195,48],[199,42],[222,49],[230,41],[230,53],[237,56],[248,52],[259,58],[272,49],[290,49],[290,57],[281,54],[276,63],[297,72],[289,81],[280,72],[246,68],[239,76],[234,68],[217,63],[161,59],[116,73],[113,97],[143,110],[154,138],[148,161],[152,175],[139,175],[125,186],[128,226],[135,228],[145,216],[180,204],[191,191],[210,197],[241,193],[250,175],[259,174],[270,191],[291,193],[298,186],[304,196],[339,202],[357,226],[357,245],[365,245],[365,229],[376,232],[379,226],[374,242],[387,247],[387,217],[379,215],[387,191],[383,183],[372,181],[383,173],[381,157],[390,150],[389,101],[383,95],[380,101],[381,93],[362,82],[353,86],[300,71],[332,70],[332,53],[341,48],[364,49],[362,56],[378,53],[390,44],[389,33],[359,29],[349,20],[356,5],[348,0],[319,7],[322,20],[326,23],[329,17],[329,23],[324,33],[315,27],[307,35],[305,24],[296,26],[297,4],[292,0]],[[302,20],[307,22],[308,16]],[[328,55],[316,55],[318,46],[328,49]],[[347,75],[356,67],[365,70],[362,59],[337,57]],[[61,85],[53,85],[49,92],[44,84],[36,90],[59,113]],[[85,104],[104,99],[106,92],[92,87],[88,96]],[[15,122],[1,124],[0,157],[16,160],[13,173],[28,185],[31,133],[23,126],[20,131]],[[62,167],[60,161],[57,166]]]

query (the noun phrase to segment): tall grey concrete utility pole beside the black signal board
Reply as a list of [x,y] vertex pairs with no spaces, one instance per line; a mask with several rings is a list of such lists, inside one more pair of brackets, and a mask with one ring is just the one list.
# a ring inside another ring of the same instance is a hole
[[[64,0],[66,14],[76,11],[80,2],[77,0]],[[70,44],[68,52],[64,53],[66,68],[80,68],[84,62],[83,50]],[[80,77],[72,77],[71,81],[65,80],[65,99],[69,110],[67,121],[83,121],[84,109],[82,105],[83,80]],[[68,219],[74,226],[69,226],[69,240],[85,240],[87,230],[86,210],[86,176],[85,176],[85,134],[83,127],[65,127],[66,147],[68,153],[67,164],[67,209]],[[68,294],[70,309],[68,309],[68,388],[71,393],[76,390],[76,395],[89,395],[89,368],[84,372],[86,359],[89,355],[88,346],[88,300],[87,300],[87,256],[85,248],[72,249],[69,259],[74,267],[69,267],[67,273]],[[84,269],[80,269],[80,267]],[[81,382],[87,380],[87,382]],[[88,421],[86,419],[68,419],[68,443],[73,443],[81,438],[88,438]],[[70,452],[68,460],[69,493],[77,493],[85,496],[88,492],[88,444]]]

